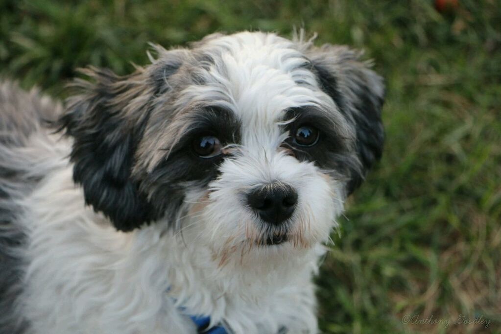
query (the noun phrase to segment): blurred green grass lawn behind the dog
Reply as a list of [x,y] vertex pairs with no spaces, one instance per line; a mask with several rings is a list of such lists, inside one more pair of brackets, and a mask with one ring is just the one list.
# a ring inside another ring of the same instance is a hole
[[148,42],[294,27],[387,84],[383,158],[317,279],[322,331],[501,332],[501,1],[0,0],[0,76],[64,98],[76,68],[130,73]]

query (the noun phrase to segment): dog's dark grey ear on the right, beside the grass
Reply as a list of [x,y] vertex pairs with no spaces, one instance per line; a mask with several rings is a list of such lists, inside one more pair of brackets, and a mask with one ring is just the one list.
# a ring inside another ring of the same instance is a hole
[[324,45],[311,50],[310,58],[322,90],[353,125],[361,170],[350,170],[347,194],[362,183],[367,171],[381,157],[384,130],[381,108],[383,79],[360,61],[361,53],[344,46]]

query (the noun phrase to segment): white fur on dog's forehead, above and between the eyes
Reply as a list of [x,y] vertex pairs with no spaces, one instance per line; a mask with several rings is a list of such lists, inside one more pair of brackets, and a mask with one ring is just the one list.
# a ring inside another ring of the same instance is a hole
[[288,108],[318,104],[312,65],[292,41],[269,33],[209,39],[202,53],[212,59],[206,74],[242,120],[279,120]]

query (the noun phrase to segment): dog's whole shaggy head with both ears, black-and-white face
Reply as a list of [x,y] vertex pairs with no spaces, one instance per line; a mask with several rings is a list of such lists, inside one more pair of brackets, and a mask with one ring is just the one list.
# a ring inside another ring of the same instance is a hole
[[[381,155],[380,77],[345,47],[211,35],[69,100],[74,179],[119,230],[153,222],[224,252],[328,239]],[[185,240],[186,241],[186,240]]]

